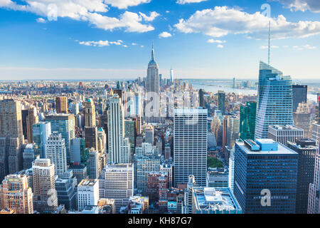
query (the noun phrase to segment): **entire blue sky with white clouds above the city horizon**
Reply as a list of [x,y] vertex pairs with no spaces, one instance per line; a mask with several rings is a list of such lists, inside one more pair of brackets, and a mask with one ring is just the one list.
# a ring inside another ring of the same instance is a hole
[[[271,19],[261,9],[270,4]],[[320,78],[318,0],[0,0],[1,79]]]

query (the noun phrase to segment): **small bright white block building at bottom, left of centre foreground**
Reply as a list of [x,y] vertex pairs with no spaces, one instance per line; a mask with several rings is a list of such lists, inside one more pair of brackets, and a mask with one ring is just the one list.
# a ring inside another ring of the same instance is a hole
[[85,206],[97,205],[99,195],[99,181],[95,179],[82,180],[78,185],[78,210],[82,211]]

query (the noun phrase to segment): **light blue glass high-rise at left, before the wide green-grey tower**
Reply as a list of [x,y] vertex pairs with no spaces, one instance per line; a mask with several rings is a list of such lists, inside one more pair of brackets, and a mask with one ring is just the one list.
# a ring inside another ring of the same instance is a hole
[[40,155],[41,158],[46,158],[46,143],[51,135],[51,123],[39,122],[33,124],[33,142],[36,144],[35,156]]

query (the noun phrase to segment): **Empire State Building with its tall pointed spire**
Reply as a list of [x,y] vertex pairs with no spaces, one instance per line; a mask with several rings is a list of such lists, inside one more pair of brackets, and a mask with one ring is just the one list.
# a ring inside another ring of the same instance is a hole
[[159,68],[154,61],[154,43],[152,43],[151,61],[148,64],[146,75],[146,109],[145,116],[147,122],[159,123],[160,105],[159,105]]

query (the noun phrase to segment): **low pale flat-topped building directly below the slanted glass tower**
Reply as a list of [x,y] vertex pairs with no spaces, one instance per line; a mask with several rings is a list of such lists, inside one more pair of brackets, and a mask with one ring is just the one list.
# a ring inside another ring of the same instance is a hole
[[269,138],[287,146],[288,142],[296,142],[297,139],[304,138],[304,130],[294,125],[270,125]]

